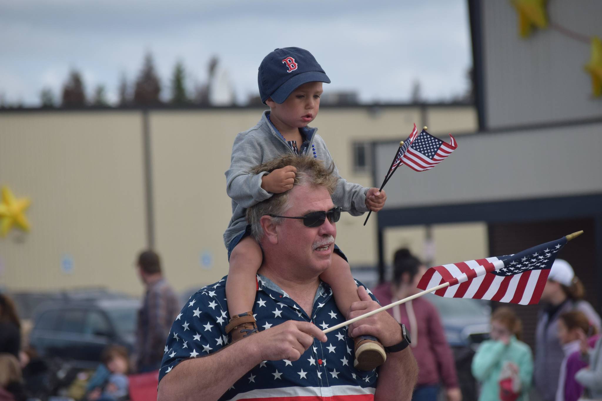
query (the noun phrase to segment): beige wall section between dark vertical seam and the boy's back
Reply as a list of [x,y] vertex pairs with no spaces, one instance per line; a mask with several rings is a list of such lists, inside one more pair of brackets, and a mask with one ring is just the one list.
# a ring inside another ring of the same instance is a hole
[[236,134],[260,115],[260,109],[151,114],[155,245],[178,290],[228,274],[222,234],[232,209],[224,173]]

